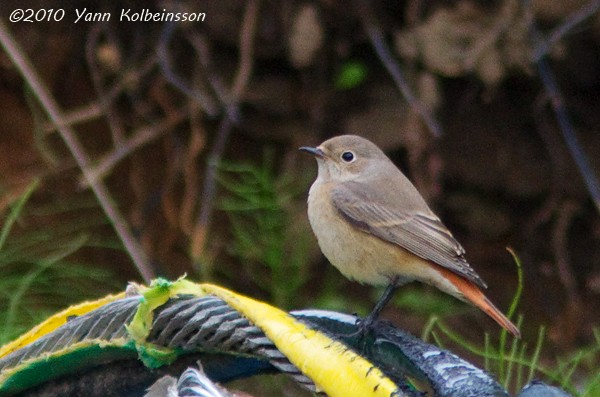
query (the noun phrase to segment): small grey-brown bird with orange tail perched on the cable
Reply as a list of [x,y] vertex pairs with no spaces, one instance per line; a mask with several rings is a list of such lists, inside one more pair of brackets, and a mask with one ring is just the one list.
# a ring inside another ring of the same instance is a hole
[[308,194],[308,218],[321,251],[349,279],[388,286],[361,322],[363,329],[400,285],[417,280],[470,302],[520,336],[483,294],[487,286],[464,248],[381,149],[342,135],[300,150],[314,155],[319,167]]

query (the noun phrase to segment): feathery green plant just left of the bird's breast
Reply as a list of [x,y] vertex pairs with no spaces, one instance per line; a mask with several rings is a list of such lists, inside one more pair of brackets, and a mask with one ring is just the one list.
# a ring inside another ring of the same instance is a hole
[[307,281],[306,251],[312,237],[292,219],[293,199],[303,189],[290,178],[277,176],[273,164],[269,151],[258,166],[222,164],[219,182],[227,197],[220,209],[231,223],[231,254],[275,305],[286,308],[297,306],[298,290]]

